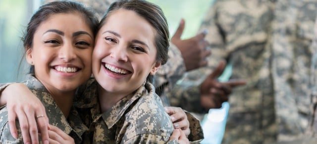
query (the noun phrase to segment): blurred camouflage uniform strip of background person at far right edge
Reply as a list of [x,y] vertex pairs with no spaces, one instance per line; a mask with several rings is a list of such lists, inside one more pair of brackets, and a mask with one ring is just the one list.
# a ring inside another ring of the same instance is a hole
[[317,0],[276,1],[269,47],[278,141],[300,138],[308,127],[316,10]]

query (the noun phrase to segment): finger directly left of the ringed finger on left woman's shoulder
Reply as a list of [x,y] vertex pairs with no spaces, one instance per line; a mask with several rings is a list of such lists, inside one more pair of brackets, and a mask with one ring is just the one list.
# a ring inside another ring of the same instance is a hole
[[31,109],[27,109],[26,111],[26,118],[29,124],[29,134],[31,136],[32,144],[39,144],[39,135],[38,135],[38,128],[35,119],[35,113]]

